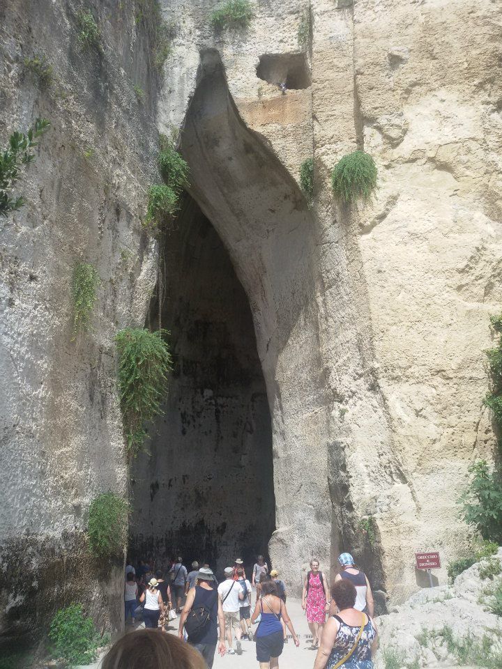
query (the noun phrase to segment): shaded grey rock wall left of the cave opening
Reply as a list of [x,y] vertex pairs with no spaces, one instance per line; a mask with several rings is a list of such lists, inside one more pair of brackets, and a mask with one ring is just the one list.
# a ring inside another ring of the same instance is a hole
[[[93,8],[102,52],[77,43],[78,3],[0,7],[2,150],[37,116],[51,122],[16,188],[26,206],[0,219],[1,640],[31,638],[71,601],[102,628],[122,624],[122,564],[97,564],[84,535],[93,497],[126,493],[113,339],[144,323],[156,277],[140,222],[156,169],[155,84],[134,3],[121,6]],[[38,55],[50,86],[24,66]],[[92,332],[72,341],[78,261],[100,285]]]

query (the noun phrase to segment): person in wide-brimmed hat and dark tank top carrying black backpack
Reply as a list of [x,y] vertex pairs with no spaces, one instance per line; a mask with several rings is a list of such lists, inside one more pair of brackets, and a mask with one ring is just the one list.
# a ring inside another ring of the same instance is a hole
[[222,601],[218,597],[213,572],[207,567],[201,567],[197,572],[195,586],[188,591],[181,612],[178,637],[183,639],[183,627],[185,627],[188,643],[204,657],[209,669],[213,667],[218,644],[218,626],[220,627],[218,652],[224,656],[227,648]]

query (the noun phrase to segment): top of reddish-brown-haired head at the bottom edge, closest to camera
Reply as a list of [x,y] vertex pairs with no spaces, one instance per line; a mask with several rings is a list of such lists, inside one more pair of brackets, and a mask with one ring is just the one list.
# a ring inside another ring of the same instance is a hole
[[138,629],[114,643],[102,669],[206,669],[206,662],[192,646],[173,634]]

